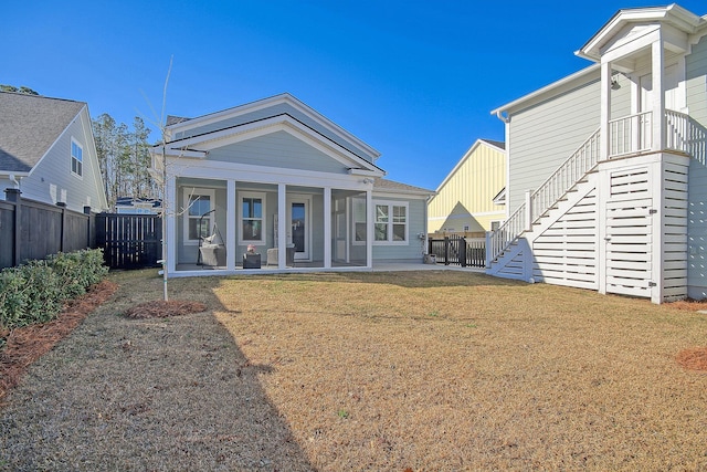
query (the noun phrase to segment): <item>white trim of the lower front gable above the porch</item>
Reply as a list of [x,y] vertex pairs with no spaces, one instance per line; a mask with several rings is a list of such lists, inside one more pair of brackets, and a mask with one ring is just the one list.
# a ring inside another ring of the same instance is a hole
[[[374,164],[371,164],[368,160],[355,155],[348,149],[339,146],[337,143],[323,141],[318,138],[318,135],[313,135],[314,132],[309,127],[303,125],[289,115],[278,115],[272,118],[235,126],[233,128],[221,129],[202,136],[194,136],[191,138],[184,138],[168,143],[167,153],[170,155],[191,157],[187,156],[183,153],[208,153],[211,149],[229,146],[242,140],[252,139],[278,130],[286,132],[295,136],[296,138],[302,139],[309,146],[336,159],[347,167],[350,167],[351,164],[355,164],[356,166],[359,166],[360,168],[366,170],[382,172],[382,169],[380,169]],[[183,149],[184,151],[182,153],[180,149]]]

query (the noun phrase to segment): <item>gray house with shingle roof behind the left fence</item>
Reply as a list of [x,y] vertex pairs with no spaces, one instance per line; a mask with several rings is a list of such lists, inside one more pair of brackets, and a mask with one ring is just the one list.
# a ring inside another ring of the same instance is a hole
[[78,212],[107,209],[85,103],[0,92],[0,199],[6,188]]

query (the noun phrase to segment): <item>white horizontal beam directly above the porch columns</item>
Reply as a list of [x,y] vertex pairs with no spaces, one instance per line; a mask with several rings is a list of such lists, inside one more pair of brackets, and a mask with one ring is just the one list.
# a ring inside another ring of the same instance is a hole
[[302,187],[331,187],[340,189],[366,190],[368,185],[348,174],[318,172],[313,170],[283,167],[264,167],[250,164],[228,164],[212,160],[191,160],[167,158],[170,176],[238,180],[256,183],[285,183]]

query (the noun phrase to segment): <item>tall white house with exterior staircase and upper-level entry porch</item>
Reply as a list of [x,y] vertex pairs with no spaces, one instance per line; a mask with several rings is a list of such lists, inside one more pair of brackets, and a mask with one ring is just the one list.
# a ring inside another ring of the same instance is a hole
[[594,64],[492,112],[508,217],[487,273],[707,297],[707,15],[621,10],[576,54]]

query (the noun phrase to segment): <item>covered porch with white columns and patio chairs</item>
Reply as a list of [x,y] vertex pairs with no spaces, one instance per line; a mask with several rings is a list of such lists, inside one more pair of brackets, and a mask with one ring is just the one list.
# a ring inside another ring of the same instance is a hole
[[170,275],[371,269],[372,179],[347,177],[338,186],[173,177]]

